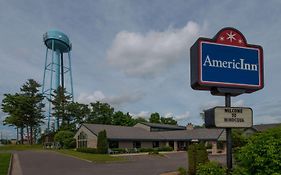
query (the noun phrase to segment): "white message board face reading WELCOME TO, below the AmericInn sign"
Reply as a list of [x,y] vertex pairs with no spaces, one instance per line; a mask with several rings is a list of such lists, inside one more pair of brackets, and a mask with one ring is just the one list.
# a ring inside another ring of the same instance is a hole
[[253,126],[253,110],[244,107],[215,107],[215,126],[222,128],[250,128]]

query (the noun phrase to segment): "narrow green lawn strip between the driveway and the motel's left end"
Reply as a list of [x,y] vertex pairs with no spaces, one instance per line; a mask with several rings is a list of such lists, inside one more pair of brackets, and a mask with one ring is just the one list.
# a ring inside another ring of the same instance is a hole
[[91,153],[81,153],[77,152],[75,150],[56,150],[56,152],[66,154],[69,156],[77,157],[80,159],[86,159],[91,162],[96,162],[96,163],[107,163],[107,162],[123,162],[126,161],[125,158],[123,157],[113,157],[108,154],[91,154]]

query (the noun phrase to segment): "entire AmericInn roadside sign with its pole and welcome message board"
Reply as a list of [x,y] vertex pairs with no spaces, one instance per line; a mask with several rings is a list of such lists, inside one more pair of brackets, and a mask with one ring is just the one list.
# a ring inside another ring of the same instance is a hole
[[[207,90],[212,95],[225,96],[225,108],[215,107],[205,111],[205,124],[206,127],[225,128],[227,174],[231,174],[231,128],[252,127],[253,124],[252,109],[231,108],[231,96],[252,93],[264,87],[263,49],[259,45],[248,44],[239,30],[227,27],[213,39],[197,39],[190,48],[190,66],[190,83],[194,90]],[[229,114],[232,116],[229,117]]]

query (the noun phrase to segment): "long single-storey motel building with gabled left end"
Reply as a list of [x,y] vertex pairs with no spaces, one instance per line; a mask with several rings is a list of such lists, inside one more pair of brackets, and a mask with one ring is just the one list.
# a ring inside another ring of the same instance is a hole
[[133,127],[82,124],[75,134],[77,148],[96,148],[97,136],[105,130],[109,148],[157,148],[172,147],[175,151],[186,150],[193,142],[203,141],[211,154],[226,153],[224,129],[193,128],[155,123],[138,123]]

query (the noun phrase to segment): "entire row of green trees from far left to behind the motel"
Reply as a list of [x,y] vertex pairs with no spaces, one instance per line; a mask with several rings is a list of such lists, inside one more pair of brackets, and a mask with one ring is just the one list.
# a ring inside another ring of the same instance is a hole
[[[4,94],[2,111],[8,115],[3,123],[16,128],[21,143],[24,140],[24,133],[27,135],[28,142],[34,143],[34,135],[38,133],[40,125],[44,123],[45,104],[43,103],[44,96],[39,90],[40,87],[41,85],[35,80],[28,79],[19,92]],[[75,132],[82,123],[134,126],[141,122],[151,122],[177,125],[177,121],[173,117],[161,117],[157,112],[152,113],[147,120],[142,117],[133,118],[128,112],[115,111],[112,106],[104,102],[96,101],[90,104],[74,102],[62,87],[54,90],[51,96],[52,99],[48,99],[52,103],[51,115],[57,119],[58,130]],[[24,130],[26,131],[24,132]]]

